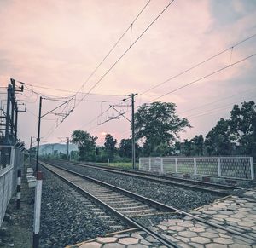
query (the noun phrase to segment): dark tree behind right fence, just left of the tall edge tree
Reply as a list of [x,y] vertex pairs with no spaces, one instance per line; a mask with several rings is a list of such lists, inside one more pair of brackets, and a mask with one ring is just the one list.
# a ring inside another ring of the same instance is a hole
[[230,121],[221,118],[208,132],[205,145],[208,155],[230,155],[233,148]]

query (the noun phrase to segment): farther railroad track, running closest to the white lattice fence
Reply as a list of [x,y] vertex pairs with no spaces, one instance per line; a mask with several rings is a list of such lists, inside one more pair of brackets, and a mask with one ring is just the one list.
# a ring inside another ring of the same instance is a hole
[[244,190],[244,188],[242,187],[234,187],[230,185],[211,183],[211,182],[201,182],[201,181],[177,178],[173,176],[156,175],[153,173],[147,173],[147,172],[138,171],[138,170],[136,171],[124,170],[124,169],[122,170],[117,168],[109,168],[107,166],[102,166],[102,165],[84,164],[84,163],[82,164],[82,163],[76,163],[76,162],[61,161],[61,164],[63,163],[70,164],[70,165],[79,165],[82,167],[89,167],[96,170],[108,171],[108,172],[125,175],[125,176],[133,176],[137,178],[142,178],[144,180],[165,183],[168,185],[171,184],[177,187],[189,188],[189,189],[198,190],[198,191],[207,192],[207,193],[214,193],[221,196],[230,195],[230,192],[234,190]]

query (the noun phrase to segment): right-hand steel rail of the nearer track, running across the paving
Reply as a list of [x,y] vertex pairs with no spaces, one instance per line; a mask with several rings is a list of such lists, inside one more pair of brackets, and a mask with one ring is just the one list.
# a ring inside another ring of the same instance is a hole
[[[45,164],[45,163],[44,163],[44,164]],[[49,165],[51,165],[51,163],[50,163]],[[113,185],[111,185],[111,184],[109,184],[109,183],[107,183],[107,182],[102,182],[102,181],[96,180],[96,179],[94,179],[94,178],[92,178],[92,177],[90,177],[90,176],[84,176],[84,175],[82,175],[82,174],[79,174],[78,172],[75,172],[75,171],[73,171],[73,170],[68,170],[68,169],[62,168],[62,167],[60,167],[60,166],[58,166],[58,165],[55,165],[55,164],[52,164],[52,166],[55,166],[55,167],[57,167],[57,168],[59,168],[59,169],[61,169],[61,170],[65,170],[65,171],[67,171],[67,172],[70,172],[70,173],[72,173],[73,175],[80,176],[80,177],[82,177],[82,178],[88,179],[88,180],[90,180],[90,181],[92,181],[92,182],[98,182],[98,183],[100,183],[100,184],[102,184],[102,185],[104,185],[104,186],[106,186],[106,187],[110,187],[110,188],[113,188],[113,189],[115,189],[115,190],[117,190],[117,191],[119,191],[119,192],[123,192],[123,193],[126,194],[126,195],[130,195],[130,196],[133,197],[133,198],[137,198],[137,199],[140,199],[141,201],[145,201],[145,202],[147,202],[148,204],[151,204],[151,205],[154,205],[154,206],[157,206],[157,205],[158,205],[158,208],[159,208],[159,209],[168,210],[168,211],[171,211],[171,212],[173,211],[173,212],[176,212],[176,213],[178,213],[178,214],[180,214],[180,215],[182,215],[182,216],[189,216],[189,217],[193,218],[194,220],[196,220],[196,221],[198,221],[198,222],[202,222],[202,223],[207,224],[207,225],[209,225],[209,226],[212,226],[213,228],[220,228],[220,229],[223,229],[223,230],[229,232],[230,234],[236,234],[236,235],[238,235],[238,236],[241,236],[241,237],[243,237],[243,238],[250,239],[250,240],[253,240],[254,242],[256,242],[256,238],[255,238],[255,237],[253,237],[253,236],[251,236],[251,235],[247,235],[247,234],[242,234],[242,232],[244,231],[244,230],[242,230],[242,229],[241,229],[241,231],[236,231],[236,230],[233,230],[233,229],[224,227],[224,226],[222,226],[222,225],[220,225],[220,224],[211,222],[210,220],[205,220],[205,219],[203,219],[203,218],[201,218],[201,217],[199,217],[199,216],[195,216],[195,215],[190,214],[190,213],[188,213],[188,212],[186,212],[186,211],[179,210],[179,209],[177,209],[177,208],[175,208],[175,207],[173,207],[173,206],[165,205],[165,204],[162,204],[162,203],[160,203],[160,202],[157,202],[157,201],[155,201],[155,200],[153,200],[153,199],[148,199],[148,198],[146,198],[146,197],[144,197],[144,196],[142,196],[142,195],[139,195],[139,194],[137,194],[137,193],[132,193],[132,192],[130,192],[130,191],[128,191],[128,190],[125,190],[125,189],[123,189],[123,188],[113,186]]]

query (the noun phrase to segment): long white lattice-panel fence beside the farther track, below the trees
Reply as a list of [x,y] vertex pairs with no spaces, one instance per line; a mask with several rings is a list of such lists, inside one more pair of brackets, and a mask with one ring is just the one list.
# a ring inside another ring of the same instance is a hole
[[139,170],[254,179],[252,157],[149,157],[139,159]]

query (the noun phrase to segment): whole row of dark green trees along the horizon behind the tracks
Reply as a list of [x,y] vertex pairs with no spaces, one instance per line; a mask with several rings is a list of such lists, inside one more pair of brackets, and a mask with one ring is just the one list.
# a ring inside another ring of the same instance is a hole
[[[135,113],[137,158],[142,156],[216,156],[249,155],[256,157],[256,105],[244,101],[234,105],[230,118],[220,118],[207,136],[201,134],[180,141],[179,134],[191,128],[187,118],[176,113],[176,105],[156,101],[143,104]],[[131,161],[131,139],[118,141],[107,134],[102,147],[96,145],[97,136],[85,130],[74,130],[72,142],[79,147],[73,157],[82,161]]]

